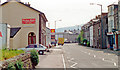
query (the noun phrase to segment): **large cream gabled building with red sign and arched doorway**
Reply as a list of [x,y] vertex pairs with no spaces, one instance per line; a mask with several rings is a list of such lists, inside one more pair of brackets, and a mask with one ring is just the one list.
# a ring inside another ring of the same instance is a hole
[[20,0],[7,0],[0,7],[0,23],[10,26],[9,48],[23,48],[29,44],[48,46],[50,29],[46,27],[48,20],[43,12]]

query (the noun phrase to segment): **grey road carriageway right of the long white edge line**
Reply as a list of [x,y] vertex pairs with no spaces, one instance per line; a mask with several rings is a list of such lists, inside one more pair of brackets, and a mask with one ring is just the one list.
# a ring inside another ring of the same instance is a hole
[[95,48],[66,44],[63,47],[67,68],[117,68],[118,56]]

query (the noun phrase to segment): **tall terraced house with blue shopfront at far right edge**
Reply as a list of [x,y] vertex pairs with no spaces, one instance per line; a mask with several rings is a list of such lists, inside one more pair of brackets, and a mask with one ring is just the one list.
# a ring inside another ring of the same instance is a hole
[[108,6],[108,48],[118,49],[118,5]]

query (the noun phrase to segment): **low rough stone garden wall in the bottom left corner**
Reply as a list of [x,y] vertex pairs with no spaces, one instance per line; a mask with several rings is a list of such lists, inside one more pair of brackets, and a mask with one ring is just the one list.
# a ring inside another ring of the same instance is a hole
[[15,64],[18,60],[21,60],[24,63],[23,64],[24,68],[32,69],[32,62],[30,59],[30,54],[26,53],[26,54],[21,54],[16,57],[13,57],[8,60],[4,60],[4,61],[0,62],[0,70],[3,68],[6,68],[9,63]]

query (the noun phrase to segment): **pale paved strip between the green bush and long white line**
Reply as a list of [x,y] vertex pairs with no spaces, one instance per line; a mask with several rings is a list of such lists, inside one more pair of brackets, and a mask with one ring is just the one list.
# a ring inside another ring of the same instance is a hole
[[63,68],[63,52],[59,48],[51,48],[50,52],[39,55],[39,64],[36,68]]

